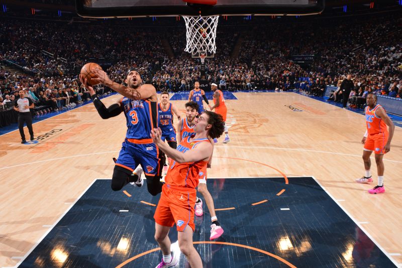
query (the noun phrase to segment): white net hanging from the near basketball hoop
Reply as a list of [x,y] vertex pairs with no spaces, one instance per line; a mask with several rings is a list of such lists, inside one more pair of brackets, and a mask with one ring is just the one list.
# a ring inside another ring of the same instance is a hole
[[215,39],[217,37],[219,16],[184,16],[183,18],[187,41],[184,51],[191,53],[193,57],[215,53],[217,50]]

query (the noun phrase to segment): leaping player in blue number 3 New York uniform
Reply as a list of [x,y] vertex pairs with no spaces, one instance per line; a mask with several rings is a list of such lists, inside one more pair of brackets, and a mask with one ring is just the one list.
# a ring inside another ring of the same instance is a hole
[[[92,72],[96,75],[92,80],[99,81],[124,96],[106,108],[93,88],[88,86],[87,80],[82,81],[80,77],[81,83],[90,91],[93,104],[102,118],[114,117],[121,112],[126,116],[127,133],[113,171],[112,189],[119,191],[131,182],[142,185],[143,170],[147,178],[148,192],[157,195],[162,191],[160,163],[164,163],[165,159],[159,159],[159,149],[153,144],[149,134],[158,126],[155,87],[150,84],[142,85],[140,73],[135,68],[127,71],[125,82],[128,86],[113,82],[103,70],[95,69]],[[138,165],[141,165],[142,170],[136,169]]]

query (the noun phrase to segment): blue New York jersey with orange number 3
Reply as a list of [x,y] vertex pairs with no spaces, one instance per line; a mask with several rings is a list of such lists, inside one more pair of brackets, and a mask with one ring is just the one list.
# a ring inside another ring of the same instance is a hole
[[127,139],[151,139],[151,129],[158,127],[157,102],[145,99],[132,100],[123,97],[121,100],[124,115],[127,119]]

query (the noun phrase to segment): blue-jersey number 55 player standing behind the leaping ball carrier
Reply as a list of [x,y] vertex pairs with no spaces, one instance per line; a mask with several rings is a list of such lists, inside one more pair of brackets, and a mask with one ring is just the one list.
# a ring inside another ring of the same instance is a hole
[[[168,92],[162,92],[160,94],[160,99],[161,102],[158,104],[158,120],[159,120],[159,127],[162,130],[162,141],[167,141],[169,146],[173,149],[176,149],[177,147],[177,141],[176,141],[176,130],[174,129],[173,126],[173,113],[177,116],[178,120],[181,119],[180,114],[178,113],[178,110],[176,106],[173,105],[173,103],[169,102],[169,93]],[[163,152],[161,152],[163,154]],[[170,162],[170,159],[167,159],[168,162]],[[162,163],[163,166],[166,166],[165,163]],[[166,166],[166,171],[167,171],[167,166]],[[165,168],[163,170],[165,173]]]

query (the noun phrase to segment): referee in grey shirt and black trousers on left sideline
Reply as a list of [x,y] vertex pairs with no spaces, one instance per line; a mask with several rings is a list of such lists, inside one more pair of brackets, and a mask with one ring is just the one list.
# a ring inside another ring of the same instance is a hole
[[22,144],[25,144],[27,141],[25,140],[24,133],[24,122],[27,123],[27,127],[29,130],[29,135],[31,135],[31,141],[34,140],[34,130],[32,129],[32,114],[29,110],[33,108],[35,104],[32,102],[32,99],[25,97],[25,92],[23,89],[18,91],[20,98],[15,102],[14,110],[18,111],[18,128],[20,129]]

